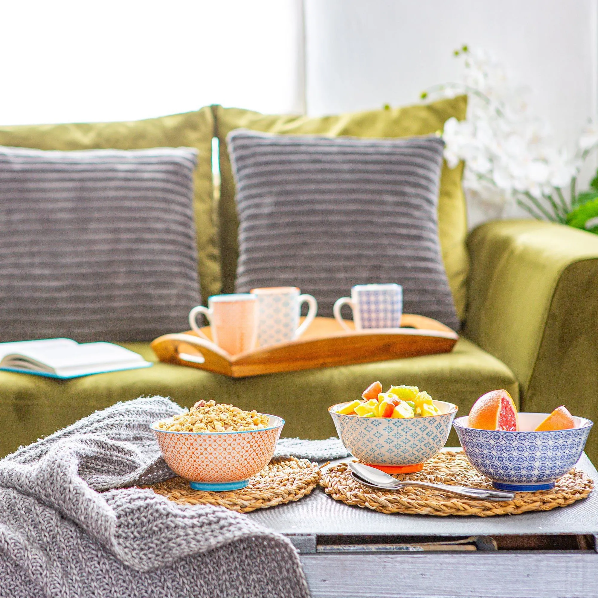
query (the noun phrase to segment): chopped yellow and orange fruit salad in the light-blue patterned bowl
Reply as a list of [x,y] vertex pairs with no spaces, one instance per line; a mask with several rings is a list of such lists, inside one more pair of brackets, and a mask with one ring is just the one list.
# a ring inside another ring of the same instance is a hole
[[432,397],[417,386],[391,386],[382,392],[382,384],[374,382],[361,395],[363,400],[356,399],[337,410],[343,415],[361,417],[427,417],[440,415]]

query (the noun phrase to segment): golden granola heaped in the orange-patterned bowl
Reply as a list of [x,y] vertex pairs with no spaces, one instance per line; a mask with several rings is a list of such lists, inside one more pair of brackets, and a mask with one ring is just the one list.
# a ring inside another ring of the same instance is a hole
[[244,432],[263,430],[269,423],[267,415],[255,410],[243,411],[216,401],[197,401],[189,411],[159,422],[157,428],[166,432]]

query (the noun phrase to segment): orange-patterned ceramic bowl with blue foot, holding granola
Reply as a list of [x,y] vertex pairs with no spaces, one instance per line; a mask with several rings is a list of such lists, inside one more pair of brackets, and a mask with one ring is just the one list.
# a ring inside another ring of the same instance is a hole
[[[272,458],[285,425],[282,417],[270,417],[263,430],[242,432],[169,432],[152,423],[167,465],[194,490],[238,490]],[[170,420],[162,420],[169,422]]]

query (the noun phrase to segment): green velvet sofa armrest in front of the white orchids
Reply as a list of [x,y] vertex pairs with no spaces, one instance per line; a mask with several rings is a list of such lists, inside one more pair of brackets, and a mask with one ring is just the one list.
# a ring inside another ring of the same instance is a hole
[[465,334],[511,368],[523,410],[565,404],[594,419],[598,235],[548,222],[498,221],[472,231],[468,249]]

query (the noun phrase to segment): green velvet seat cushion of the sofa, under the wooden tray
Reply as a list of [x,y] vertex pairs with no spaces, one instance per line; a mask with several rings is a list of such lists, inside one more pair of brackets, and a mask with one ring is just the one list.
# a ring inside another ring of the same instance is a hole
[[[146,343],[122,343],[155,361]],[[384,386],[417,385],[436,399],[455,402],[466,414],[478,396],[507,389],[518,402],[518,386],[506,365],[461,338],[453,352],[372,364],[229,379],[194,368],[157,362],[151,368],[54,380],[0,371],[0,456],[51,434],[117,401],[141,395],[171,396],[189,407],[200,399],[231,402],[282,416],[283,436],[335,435],[330,405],[361,396],[375,380]],[[456,438],[450,440],[458,444]]]

